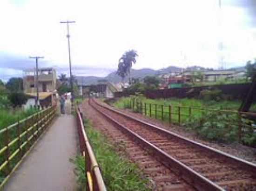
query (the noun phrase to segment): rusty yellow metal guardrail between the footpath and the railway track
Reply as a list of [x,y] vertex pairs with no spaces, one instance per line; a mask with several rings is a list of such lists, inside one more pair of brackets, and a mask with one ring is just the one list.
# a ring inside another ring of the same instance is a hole
[[95,159],[92,146],[89,143],[85,128],[83,125],[82,114],[76,106],[76,119],[78,128],[78,139],[80,152],[85,157],[86,174],[87,174],[87,190],[88,191],[107,191],[104,180],[101,175],[101,170]]

